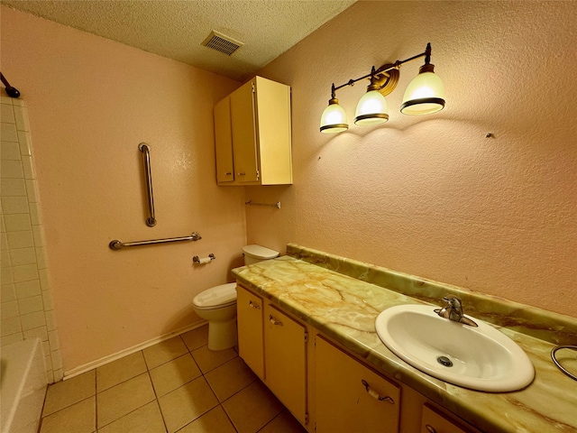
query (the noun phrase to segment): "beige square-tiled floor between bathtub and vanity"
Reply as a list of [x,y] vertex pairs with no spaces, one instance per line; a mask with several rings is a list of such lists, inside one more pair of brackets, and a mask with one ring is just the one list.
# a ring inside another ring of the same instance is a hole
[[234,349],[199,327],[50,385],[40,433],[305,433]]

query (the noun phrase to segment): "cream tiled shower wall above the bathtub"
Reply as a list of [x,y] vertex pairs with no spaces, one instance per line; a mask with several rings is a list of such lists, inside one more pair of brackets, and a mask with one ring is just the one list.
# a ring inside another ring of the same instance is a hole
[[62,379],[62,356],[28,112],[21,99],[1,97],[0,198],[2,334],[0,346],[38,336],[49,382]]

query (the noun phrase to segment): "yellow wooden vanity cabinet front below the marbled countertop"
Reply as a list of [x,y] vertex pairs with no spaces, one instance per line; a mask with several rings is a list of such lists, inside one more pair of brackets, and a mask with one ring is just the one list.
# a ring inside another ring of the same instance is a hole
[[309,432],[481,433],[269,299],[236,291],[239,355]]

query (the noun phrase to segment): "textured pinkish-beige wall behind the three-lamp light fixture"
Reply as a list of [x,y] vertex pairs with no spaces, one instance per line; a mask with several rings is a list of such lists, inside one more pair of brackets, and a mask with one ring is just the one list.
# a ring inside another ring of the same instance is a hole
[[[575,2],[360,2],[261,75],[292,86],[291,187],[247,189],[249,242],[307,245],[577,317]],[[433,46],[447,105],[320,134],[332,82]],[[494,134],[486,138],[487,133]]]

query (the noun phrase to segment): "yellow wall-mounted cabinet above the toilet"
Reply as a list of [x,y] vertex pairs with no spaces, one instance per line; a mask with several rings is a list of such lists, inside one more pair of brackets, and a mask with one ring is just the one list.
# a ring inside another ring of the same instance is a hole
[[289,86],[252,78],[214,114],[218,185],[292,184]]

